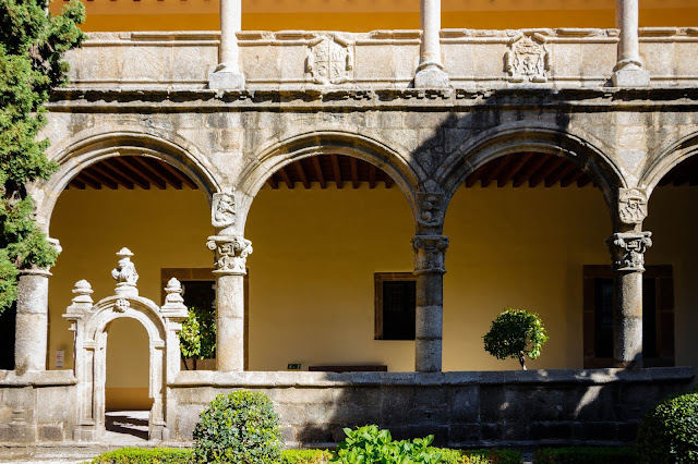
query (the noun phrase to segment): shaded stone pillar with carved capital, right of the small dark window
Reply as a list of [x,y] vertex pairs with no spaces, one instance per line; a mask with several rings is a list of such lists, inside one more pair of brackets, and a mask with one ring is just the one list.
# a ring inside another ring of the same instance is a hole
[[414,370],[438,373],[442,365],[444,319],[444,259],[448,237],[414,235],[414,276],[417,276],[417,327]]

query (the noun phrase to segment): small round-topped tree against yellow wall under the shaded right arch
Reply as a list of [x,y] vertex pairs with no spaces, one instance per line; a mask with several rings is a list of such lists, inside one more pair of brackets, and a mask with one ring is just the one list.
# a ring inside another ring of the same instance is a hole
[[535,313],[507,308],[498,315],[483,337],[484,349],[497,359],[514,357],[526,370],[526,356],[535,359],[547,341],[543,322]]

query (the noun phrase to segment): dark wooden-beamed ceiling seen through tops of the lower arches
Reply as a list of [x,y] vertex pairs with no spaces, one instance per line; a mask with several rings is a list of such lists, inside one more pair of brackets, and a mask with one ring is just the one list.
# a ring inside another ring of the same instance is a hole
[[[480,167],[464,182],[465,187],[578,186],[591,178],[573,161],[553,155],[519,152],[497,158]],[[380,168],[358,158],[320,155],[294,161],[276,171],[266,187],[285,188],[390,188],[395,182]],[[698,157],[674,168],[660,185],[698,185]],[[197,188],[177,168],[149,157],[115,157],[92,164],[77,174],[67,188]]]

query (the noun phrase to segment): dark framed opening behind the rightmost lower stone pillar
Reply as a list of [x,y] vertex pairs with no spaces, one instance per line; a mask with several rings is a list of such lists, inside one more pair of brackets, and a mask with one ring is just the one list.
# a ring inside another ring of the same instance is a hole
[[[613,366],[613,271],[583,267],[585,368]],[[642,274],[642,357],[646,367],[674,365],[674,280],[671,266]]]

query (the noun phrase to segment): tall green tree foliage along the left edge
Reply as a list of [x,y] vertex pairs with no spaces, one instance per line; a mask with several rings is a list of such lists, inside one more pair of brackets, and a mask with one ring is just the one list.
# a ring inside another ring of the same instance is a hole
[[55,264],[58,252],[33,218],[26,184],[56,170],[38,139],[51,88],[67,81],[65,51],[80,46],[84,7],[61,14],[48,0],[0,0],[0,313],[16,300],[19,269]]

